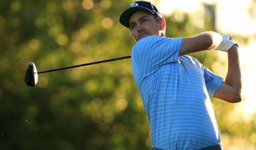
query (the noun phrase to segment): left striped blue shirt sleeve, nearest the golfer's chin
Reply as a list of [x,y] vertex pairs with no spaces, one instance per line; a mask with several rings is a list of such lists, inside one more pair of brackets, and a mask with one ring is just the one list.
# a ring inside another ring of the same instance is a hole
[[167,63],[177,62],[182,38],[147,36],[138,41],[132,49],[132,59],[143,76],[154,73]]

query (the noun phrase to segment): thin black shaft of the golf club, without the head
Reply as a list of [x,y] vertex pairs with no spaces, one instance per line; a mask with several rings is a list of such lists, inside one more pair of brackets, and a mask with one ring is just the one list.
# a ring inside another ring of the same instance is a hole
[[103,62],[110,62],[110,61],[115,61],[115,60],[127,59],[127,58],[131,58],[131,56],[124,56],[124,57],[118,57],[118,58],[112,58],[112,59],[106,59],[106,60],[101,60],[101,61],[95,61],[95,62],[79,64],[79,65],[74,65],[74,66],[67,66],[67,67],[62,67],[62,68],[57,68],[57,69],[52,69],[52,70],[45,70],[45,71],[38,72],[38,74],[46,73],[46,72],[52,72],[52,71],[58,71],[58,70],[64,70],[64,69],[70,69],[70,68],[75,68],[75,67],[81,67],[81,66],[86,66],[86,65],[92,65],[92,64],[97,64],[97,63],[103,63]]

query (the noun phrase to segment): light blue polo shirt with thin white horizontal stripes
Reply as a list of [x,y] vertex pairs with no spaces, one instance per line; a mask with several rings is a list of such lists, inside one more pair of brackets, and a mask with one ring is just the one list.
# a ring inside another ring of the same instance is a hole
[[223,78],[180,56],[182,38],[151,35],[134,45],[131,65],[151,127],[153,146],[196,150],[221,143],[209,96]]

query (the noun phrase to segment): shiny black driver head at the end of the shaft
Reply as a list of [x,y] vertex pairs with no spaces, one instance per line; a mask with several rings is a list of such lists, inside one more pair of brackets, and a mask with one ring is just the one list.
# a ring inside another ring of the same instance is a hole
[[38,81],[37,68],[35,67],[35,64],[33,62],[30,62],[28,64],[28,70],[25,76],[25,83],[28,86],[34,87],[35,85],[37,85],[37,81]]

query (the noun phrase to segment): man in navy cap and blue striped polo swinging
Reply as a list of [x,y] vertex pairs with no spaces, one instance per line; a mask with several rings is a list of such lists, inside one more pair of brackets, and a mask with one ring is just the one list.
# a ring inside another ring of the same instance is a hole
[[[228,35],[203,32],[193,37],[165,37],[165,19],[146,1],[133,2],[120,23],[137,42],[131,65],[151,126],[152,149],[223,149],[209,96],[241,101],[237,44]],[[225,81],[187,54],[228,52]]]

